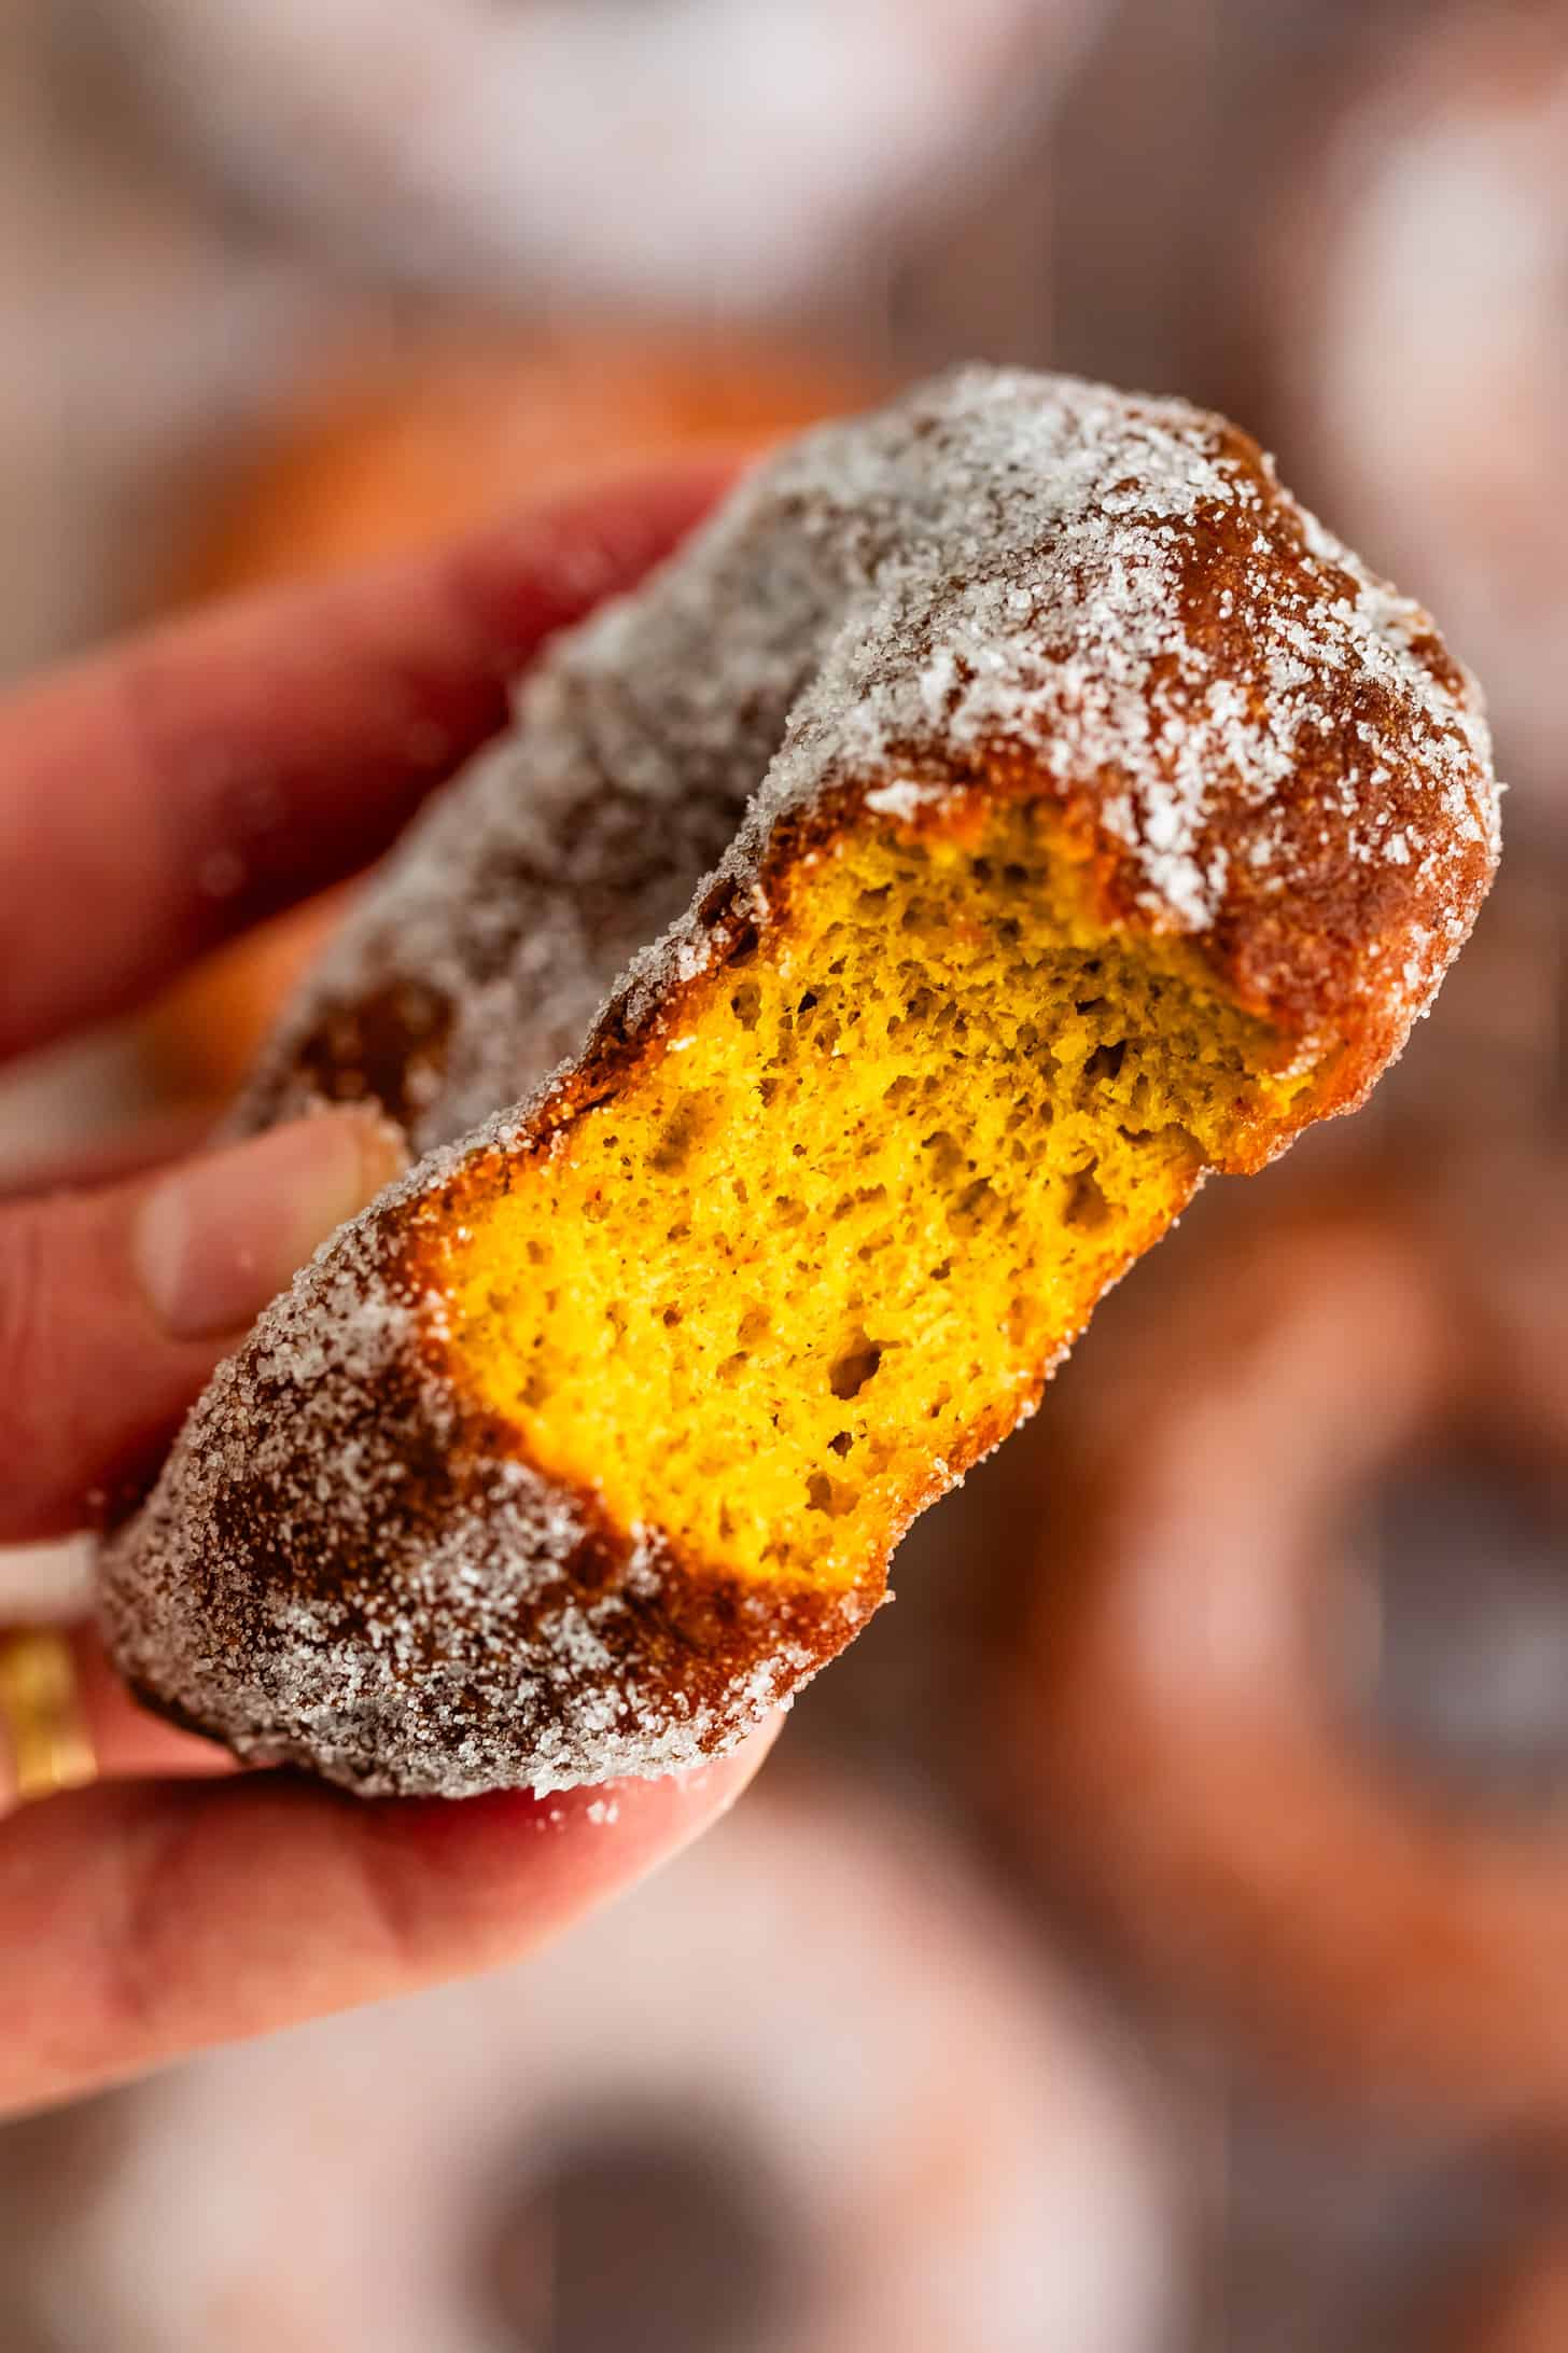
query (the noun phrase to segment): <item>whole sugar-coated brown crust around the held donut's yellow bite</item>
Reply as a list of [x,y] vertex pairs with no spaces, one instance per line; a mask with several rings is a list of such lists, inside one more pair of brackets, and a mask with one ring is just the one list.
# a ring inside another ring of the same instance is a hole
[[[110,1548],[125,1668],[244,1755],[362,1791],[691,1765],[788,1699],[863,1598],[717,1591],[508,1459],[447,1386],[407,1212],[538,1134],[552,1066],[658,1028],[766,925],[827,795],[917,826],[1056,798],[1107,913],[1192,936],[1366,1080],[1497,849],[1488,736],[1427,616],[1173,400],[969,369],[764,466],[642,593],[557,642],[411,831],[244,1108],[374,1099],[428,1158],[223,1365]],[[717,871],[717,873],[715,873]],[[658,941],[656,946],[646,946]]]

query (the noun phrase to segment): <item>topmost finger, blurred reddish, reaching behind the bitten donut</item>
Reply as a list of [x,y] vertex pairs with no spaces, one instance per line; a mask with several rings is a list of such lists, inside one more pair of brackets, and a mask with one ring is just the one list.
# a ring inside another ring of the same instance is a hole
[[249,598],[0,704],[0,1054],[364,866],[503,725],[541,640],[665,555],[729,473]]

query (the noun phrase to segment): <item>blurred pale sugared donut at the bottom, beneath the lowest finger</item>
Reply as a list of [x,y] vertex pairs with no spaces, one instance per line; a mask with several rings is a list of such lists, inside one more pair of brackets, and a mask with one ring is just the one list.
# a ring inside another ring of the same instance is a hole
[[964,1857],[769,1786],[522,1969],[0,2134],[0,2304],[14,2353],[1161,2353],[1171,2193]]

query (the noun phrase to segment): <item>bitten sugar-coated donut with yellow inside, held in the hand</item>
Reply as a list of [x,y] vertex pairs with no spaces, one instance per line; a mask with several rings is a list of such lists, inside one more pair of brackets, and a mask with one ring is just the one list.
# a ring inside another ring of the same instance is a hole
[[1361,1101],[1495,849],[1467,673],[1244,433],[976,369],[806,435],[263,1059],[430,1158],[216,1374],[120,1666],[364,1791],[729,1746],[1204,1169]]

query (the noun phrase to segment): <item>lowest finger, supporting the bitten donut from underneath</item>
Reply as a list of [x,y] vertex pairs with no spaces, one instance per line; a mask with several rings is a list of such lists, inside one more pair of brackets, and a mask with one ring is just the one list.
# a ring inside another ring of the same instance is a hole
[[242,1774],[24,1807],[0,1826],[0,2111],[515,1960],[722,1814],[776,1729],[557,1798],[364,1805]]

